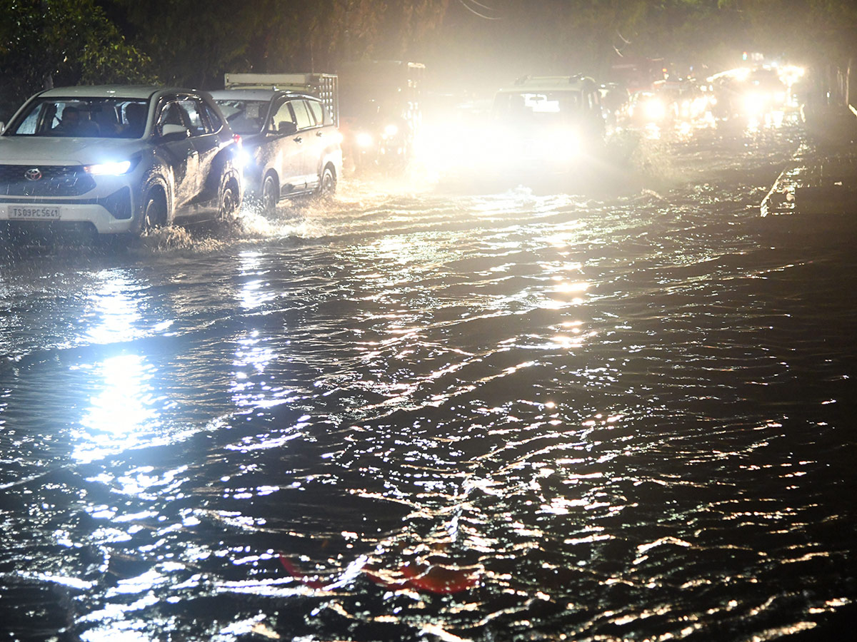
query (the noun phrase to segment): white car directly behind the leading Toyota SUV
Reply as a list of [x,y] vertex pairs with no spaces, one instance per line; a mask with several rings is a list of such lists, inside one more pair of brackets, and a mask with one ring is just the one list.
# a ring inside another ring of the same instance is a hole
[[342,136],[320,98],[274,89],[212,92],[241,136],[248,193],[273,212],[280,199],[331,196],[342,175]]

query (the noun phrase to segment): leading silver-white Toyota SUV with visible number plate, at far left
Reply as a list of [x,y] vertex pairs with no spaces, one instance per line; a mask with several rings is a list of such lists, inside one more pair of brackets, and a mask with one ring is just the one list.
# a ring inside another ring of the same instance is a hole
[[232,217],[243,195],[239,145],[205,92],[39,92],[0,135],[0,221],[114,235],[183,217]]

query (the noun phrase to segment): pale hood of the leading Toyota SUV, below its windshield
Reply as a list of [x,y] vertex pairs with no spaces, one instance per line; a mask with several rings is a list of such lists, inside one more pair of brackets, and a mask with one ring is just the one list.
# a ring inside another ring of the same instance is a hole
[[142,147],[136,139],[0,136],[0,163],[91,165],[125,160]]

